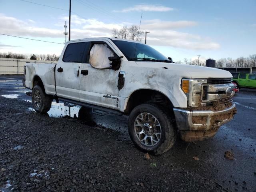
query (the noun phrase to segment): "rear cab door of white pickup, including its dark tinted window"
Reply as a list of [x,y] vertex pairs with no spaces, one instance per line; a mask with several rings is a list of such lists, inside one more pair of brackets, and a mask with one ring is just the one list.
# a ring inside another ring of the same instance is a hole
[[87,42],[70,42],[56,65],[57,96],[79,101],[79,68]]

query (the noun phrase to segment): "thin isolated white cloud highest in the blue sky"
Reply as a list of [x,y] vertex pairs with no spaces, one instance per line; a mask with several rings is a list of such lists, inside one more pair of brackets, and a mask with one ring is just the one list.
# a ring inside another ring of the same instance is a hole
[[166,12],[172,11],[174,8],[166,7],[166,6],[159,6],[159,5],[147,5],[147,4],[139,4],[133,7],[124,8],[122,10],[114,10],[114,12],[131,12],[131,11],[154,11],[154,12]]

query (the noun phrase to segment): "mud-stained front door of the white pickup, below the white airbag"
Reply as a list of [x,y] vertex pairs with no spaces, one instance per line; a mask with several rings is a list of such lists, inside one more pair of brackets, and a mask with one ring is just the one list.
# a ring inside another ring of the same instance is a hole
[[[107,108],[118,108],[118,70],[110,68],[96,68],[89,64],[90,50],[94,44],[106,44],[114,54],[114,48],[108,41],[91,41],[86,63],[80,67],[80,102],[103,106]],[[99,54],[99,57],[104,55]],[[111,63],[106,57],[107,62]]]

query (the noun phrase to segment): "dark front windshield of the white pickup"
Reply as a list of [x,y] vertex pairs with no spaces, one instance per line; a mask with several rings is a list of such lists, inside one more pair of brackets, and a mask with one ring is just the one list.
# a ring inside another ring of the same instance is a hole
[[112,41],[129,61],[170,61],[166,56],[146,44],[120,40]]

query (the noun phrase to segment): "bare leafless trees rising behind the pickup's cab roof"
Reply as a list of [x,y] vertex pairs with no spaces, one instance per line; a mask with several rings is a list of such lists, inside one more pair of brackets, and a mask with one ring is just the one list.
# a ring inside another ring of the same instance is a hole
[[132,25],[130,27],[123,26],[120,30],[116,28],[112,30],[113,37],[130,39],[134,41],[141,41],[143,39],[142,34],[143,31],[140,31],[137,25]]

